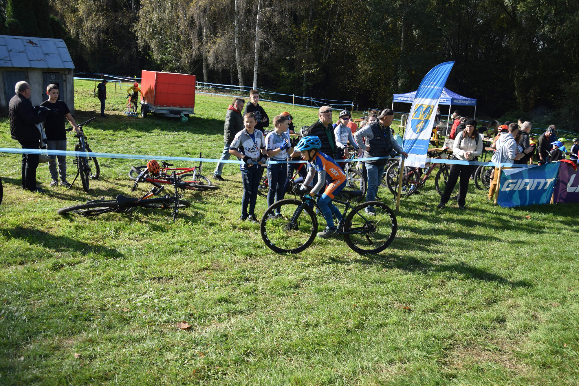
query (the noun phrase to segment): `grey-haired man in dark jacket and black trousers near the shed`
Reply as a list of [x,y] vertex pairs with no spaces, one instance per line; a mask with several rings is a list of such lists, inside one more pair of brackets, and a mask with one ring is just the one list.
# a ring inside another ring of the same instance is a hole
[[[44,122],[49,110],[38,112],[32,107],[30,95],[32,89],[27,82],[16,83],[16,95],[8,104],[10,117],[10,136],[19,141],[23,149],[40,148],[40,132],[36,123]],[[44,193],[45,190],[36,187],[36,167],[38,154],[22,155],[22,188]]]

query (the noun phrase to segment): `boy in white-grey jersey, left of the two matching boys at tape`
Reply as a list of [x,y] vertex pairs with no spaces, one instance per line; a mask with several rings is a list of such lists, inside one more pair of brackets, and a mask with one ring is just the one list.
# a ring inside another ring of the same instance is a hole
[[[245,128],[235,134],[229,153],[243,159],[240,165],[241,182],[243,183],[243,197],[241,197],[240,221],[250,220],[257,223],[255,217],[255,201],[261,180],[261,165],[267,161],[265,139],[263,133],[255,130],[255,114],[248,112],[243,116]],[[249,206],[249,210],[247,207]]]

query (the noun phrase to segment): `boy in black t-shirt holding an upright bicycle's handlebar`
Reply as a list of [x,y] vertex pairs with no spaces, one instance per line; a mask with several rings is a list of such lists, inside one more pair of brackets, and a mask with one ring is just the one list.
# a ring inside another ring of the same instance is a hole
[[[72,118],[68,106],[61,100],[58,100],[58,86],[48,85],[46,88],[48,100],[44,101],[41,106],[49,108],[50,112],[44,122],[44,132],[46,133],[46,147],[48,150],[67,150],[67,134],[64,131],[64,118],[68,119],[76,133],[80,134],[80,130]],[[58,175],[60,174],[60,184],[69,187],[70,183],[67,181],[67,161],[65,155],[57,155],[58,173],[56,171],[56,161],[48,162],[48,169],[50,170],[50,186],[58,185]]]

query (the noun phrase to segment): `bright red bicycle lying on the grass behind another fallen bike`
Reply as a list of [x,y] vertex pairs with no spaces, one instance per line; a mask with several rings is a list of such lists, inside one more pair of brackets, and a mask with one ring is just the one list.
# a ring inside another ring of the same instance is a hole
[[[201,153],[199,154],[199,158],[203,158]],[[135,181],[133,190],[137,187],[137,184],[141,182],[151,183],[153,186],[159,188],[163,184],[173,184],[174,180],[177,180],[178,187],[183,190],[217,190],[218,187],[211,185],[211,181],[207,177],[201,176],[202,163],[203,162],[199,162],[198,167],[171,167],[173,163],[161,161],[162,167],[160,168],[158,176],[153,176],[146,165],[131,166],[129,178]]]

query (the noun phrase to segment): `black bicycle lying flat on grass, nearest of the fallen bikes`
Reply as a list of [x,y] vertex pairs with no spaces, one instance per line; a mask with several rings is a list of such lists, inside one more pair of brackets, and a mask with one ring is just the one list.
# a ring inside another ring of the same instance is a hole
[[140,206],[146,209],[173,208],[173,220],[177,220],[179,209],[189,207],[191,204],[189,201],[181,200],[181,195],[177,194],[177,184],[174,183],[173,186],[175,188],[174,195],[166,194],[162,197],[151,198],[159,195],[165,188],[164,186],[160,188],[153,187],[141,198],[131,198],[119,194],[114,200],[105,201],[104,197],[101,197],[100,200],[87,201],[85,204],[63,207],[58,209],[56,213],[61,215],[75,213],[81,216],[98,216],[109,212],[128,213],[134,210],[135,207]]

